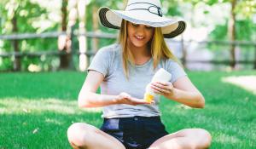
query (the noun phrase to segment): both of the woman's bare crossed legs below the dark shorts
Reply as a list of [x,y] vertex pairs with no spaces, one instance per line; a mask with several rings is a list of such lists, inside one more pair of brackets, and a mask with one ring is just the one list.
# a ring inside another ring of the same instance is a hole
[[[67,138],[74,149],[125,149],[119,140],[86,123],[73,123]],[[154,141],[149,149],[203,149],[210,144],[211,135],[206,130],[182,129]]]

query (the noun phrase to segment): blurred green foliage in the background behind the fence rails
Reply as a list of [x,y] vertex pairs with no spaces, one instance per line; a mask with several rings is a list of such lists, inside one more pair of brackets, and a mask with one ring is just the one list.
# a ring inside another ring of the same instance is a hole
[[[55,1],[44,0],[47,3],[53,3]],[[204,9],[204,16],[207,18],[211,13],[211,8],[216,7],[219,4],[228,4],[230,5],[232,0],[160,0],[163,5],[163,12],[168,16],[181,16],[186,17],[191,13],[190,9],[198,9],[197,6],[203,4],[206,8]],[[61,30],[61,21],[50,19],[50,14],[54,13],[58,15],[57,17],[61,18],[61,4],[59,7],[55,7],[54,10],[47,8],[41,5],[39,0],[1,0],[0,1],[0,34],[7,35],[13,34],[13,24],[12,19],[15,16],[17,19],[18,32],[16,33],[25,33],[25,32],[56,32]],[[62,3],[62,0],[57,1]],[[88,0],[86,6],[86,31],[93,32],[93,7],[100,8],[102,6],[111,8],[111,9],[125,9],[126,0]],[[255,0],[237,0],[235,13],[237,16],[236,20],[236,37],[237,40],[242,41],[255,41],[256,40],[256,26],[255,19],[253,22],[253,17],[256,16],[256,1]],[[69,9],[68,9],[69,10]],[[55,11],[55,12],[52,12]],[[230,9],[224,9],[225,12],[230,14]],[[228,20],[230,16],[224,16],[224,22],[214,22],[212,26],[212,32],[210,32],[208,38],[212,40],[228,40]],[[188,19],[188,18],[187,18]],[[194,16],[191,16],[192,21]],[[210,18],[211,20],[211,18]],[[212,18],[214,20],[214,18]],[[193,20],[197,21],[197,20]],[[43,27],[39,26],[42,22],[47,22],[48,26]],[[98,22],[99,23],[99,22]],[[190,22],[191,23],[191,22]],[[208,26],[207,23],[194,22],[197,26]],[[75,30],[79,29],[79,22],[75,25]],[[101,32],[107,33],[117,33],[118,30],[108,29],[99,25],[99,30]],[[102,46],[114,43],[115,39],[100,39],[99,48]],[[87,40],[88,49],[92,49],[91,38]],[[74,49],[79,49],[79,42],[75,38],[73,43]],[[35,52],[35,51],[45,51],[45,50],[57,50],[57,39],[52,38],[43,38],[43,39],[28,39],[19,41],[19,49],[24,52]],[[10,41],[1,41],[0,40],[0,52],[12,52],[14,49]],[[41,65],[45,70],[56,69],[58,65],[57,57],[51,57],[49,59],[28,59],[24,58],[22,60],[22,69],[23,71],[27,69],[29,64]],[[74,60],[78,58],[75,57]],[[0,58],[0,71],[1,70],[11,70],[13,63],[13,58]],[[49,64],[49,65],[48,65]],[[54,65],[52,65],[54,64]]]

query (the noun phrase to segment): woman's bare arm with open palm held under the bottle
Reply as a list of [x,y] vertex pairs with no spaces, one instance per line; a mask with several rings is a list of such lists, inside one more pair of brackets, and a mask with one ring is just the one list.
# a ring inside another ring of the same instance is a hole
[[99,88],[104,77],[102,73],[89,71],[85,78],[82,89],[79,93],[79,107],[99,107],[113,104],[138,105],[145,104],[144,101],[131,97],[126,93],[119,95],[99,95],[96,89]]

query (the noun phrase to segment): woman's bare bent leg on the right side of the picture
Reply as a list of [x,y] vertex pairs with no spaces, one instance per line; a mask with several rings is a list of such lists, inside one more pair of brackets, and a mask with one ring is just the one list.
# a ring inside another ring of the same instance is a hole
[[204,149],[211,145],[211,140],[205,129],[182,129],[154,141],[148,149]]

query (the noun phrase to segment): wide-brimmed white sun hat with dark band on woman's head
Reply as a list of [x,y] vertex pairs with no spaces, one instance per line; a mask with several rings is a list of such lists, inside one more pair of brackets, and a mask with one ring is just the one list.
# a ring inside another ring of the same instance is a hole
[[162,14],[160,0],[128,0],[125,10],[102,7],[98,14],[102,26],[119,29],[124,19],[135,24],[161,27],[166,38],[177,37],[186,28],[185,21],[166,18]]

